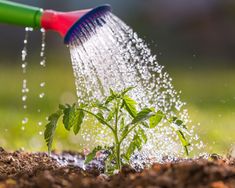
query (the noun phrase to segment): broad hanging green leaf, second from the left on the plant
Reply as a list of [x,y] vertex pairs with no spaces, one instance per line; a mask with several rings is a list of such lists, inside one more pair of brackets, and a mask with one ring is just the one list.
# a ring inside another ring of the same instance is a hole
[[67,107],[64,108],[64,116],[63,116],[63,124],[65,129],[68,131],[73,127],[77,122],[77,113],[75,109],[75,105],[70,106],[67,105]]

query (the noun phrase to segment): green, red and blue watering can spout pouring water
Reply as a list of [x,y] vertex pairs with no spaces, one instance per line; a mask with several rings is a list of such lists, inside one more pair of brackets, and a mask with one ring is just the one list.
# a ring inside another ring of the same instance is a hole
[[94,9],[58,12],[0,0],[0,23],[53,30],[68,44],[87,21],[102,18],[110,10],[109,5],[102,5]]

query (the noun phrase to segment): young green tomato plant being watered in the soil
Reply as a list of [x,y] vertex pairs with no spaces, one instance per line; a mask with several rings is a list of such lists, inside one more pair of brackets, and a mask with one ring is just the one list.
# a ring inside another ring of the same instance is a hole
[[[117,93],[110,89],[110,95],[102,101],[92,102],[91,104],[73,104],[59,105],[57,112],[49,117],[49,123],[46,125],[44,138],[46,140],[48,151],[50,153],[52,141],[57,127],[57,122],[63,116],[63,124],[66,130],[73,129],[74,134],[78,134],[84,117],[86,115],[93,116],[102,125],[106,126],[114,138],[114,143],[111,147],[97,146],[93,151],[86,156],[85,163],[89,163],[98,151],[108,151],[106,159],[107,172],[113,172],[115,169],[120,170],[122,165],[130,162],[131,155],[136,150],[141,150],[143,144],[147,142],[145,129],[155,128],[162,119],[167,119],[164,113],[160,110],[155,111],[154,108],[143,108],[137,111],[137,103],[130,98],[127,93],[132,87],[124,89]],[[183,122],[176,117],[167,119],[169,123],[174,123],[178,126],[176,132],[179,139],[188,154],[187,146],[189,143],[181,131],[185,128]],[[121,150],[123,141],[133,134],[129,146]]]

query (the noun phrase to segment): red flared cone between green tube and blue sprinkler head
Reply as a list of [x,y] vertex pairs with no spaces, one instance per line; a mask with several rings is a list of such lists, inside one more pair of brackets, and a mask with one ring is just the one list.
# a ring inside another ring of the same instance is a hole
[[43,11],[41,18],[41,27],[46,30],[57,31],[62,37],[82,16],[91,9],[78,10],[72,12],[58,12],[54,10]]

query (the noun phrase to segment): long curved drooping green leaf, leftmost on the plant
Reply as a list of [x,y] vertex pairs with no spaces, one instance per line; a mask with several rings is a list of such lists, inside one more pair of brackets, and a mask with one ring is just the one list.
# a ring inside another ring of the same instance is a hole
[[48,118],[49,123],[46,125],[46,129],[44,131],[44,139],[47,143],[49,154],[51,152],[52,142],[53,142],[55,130],[57,127],[57,122],[61,115],[62,115],[62,111],[58,110],[56,113],[51,114]]

